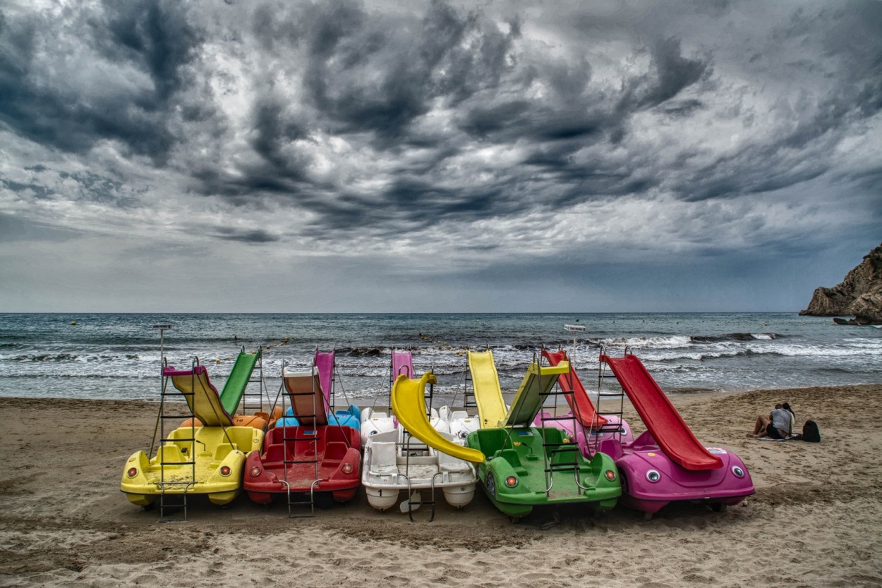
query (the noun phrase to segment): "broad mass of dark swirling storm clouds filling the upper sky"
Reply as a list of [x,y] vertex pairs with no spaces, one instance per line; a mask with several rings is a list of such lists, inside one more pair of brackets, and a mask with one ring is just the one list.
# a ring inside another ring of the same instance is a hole
[[[113,141],[187,192],[306,213],[315,238],[609,198],[717,201],[831,174],[878,186],[832,154],[882,110],[882,3],[525,8],[4,12],[0,121],[71,153]],[[122,191],[74,179],[96,200]]]

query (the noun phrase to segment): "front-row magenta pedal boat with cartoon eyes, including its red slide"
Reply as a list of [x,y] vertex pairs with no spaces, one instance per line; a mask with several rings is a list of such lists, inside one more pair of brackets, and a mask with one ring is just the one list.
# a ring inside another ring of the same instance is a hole
[[729,450],[705,447],[686,425],[647,368],[625,350],[601,354],[647,426],[632,442],[603,439],[599,450],[612,457],[622,477],[619,502],[648,518],[669,502],[691,501],[725,510],[754,492],[744,462]]

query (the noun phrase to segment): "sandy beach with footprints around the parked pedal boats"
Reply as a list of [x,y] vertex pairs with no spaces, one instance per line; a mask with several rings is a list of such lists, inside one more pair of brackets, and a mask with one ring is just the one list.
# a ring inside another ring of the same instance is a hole
[[[516,525],[480,491],[461,511],[440,501],[431,523],[424,510],[415,523],[379,513],[363,491],[314,518],[240,495],[226,509],[192,500],[189,522],[160,524],[119,491],[156,405],[4,398],[0,584],[882,585],[882,385],[672,399],[703,443],[744,459],[756,495],[722,513],[557,508]],[[784,400],[800,425],[818,421],[822,443],[746,437]]]

